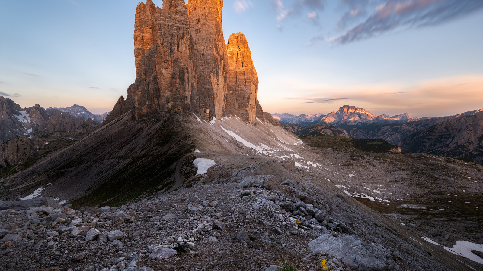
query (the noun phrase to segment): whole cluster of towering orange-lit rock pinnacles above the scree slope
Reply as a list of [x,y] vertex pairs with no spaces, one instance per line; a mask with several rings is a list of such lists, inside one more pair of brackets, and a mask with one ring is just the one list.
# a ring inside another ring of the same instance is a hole
[[[222,0],[152,0],[135,15],[136,80],[121,96],[107,124],[132,110],[134,120],[193,113],[205,121],[236,115],[277,125],[256,96],[258,77],[243,34],[225,44]],[[176,48],[176,50],[172,50]]]

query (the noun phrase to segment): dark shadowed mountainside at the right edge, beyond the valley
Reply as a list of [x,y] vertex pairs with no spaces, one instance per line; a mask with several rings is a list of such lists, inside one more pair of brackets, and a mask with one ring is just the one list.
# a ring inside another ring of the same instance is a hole
[[423,152],[480,161],[483,156],[483,112],[437,123],[401,140],[405,152]]

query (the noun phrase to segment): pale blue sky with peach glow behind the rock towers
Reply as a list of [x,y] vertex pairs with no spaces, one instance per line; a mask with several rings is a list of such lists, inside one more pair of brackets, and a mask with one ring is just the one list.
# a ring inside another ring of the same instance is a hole
[[[135,78],[138,2],[0,1],[0,95],[22,107],[111,110]],[[483,108],[481,0],[224,2],[225,39],[246,35],[265,111],[348,104],[422,117]]]

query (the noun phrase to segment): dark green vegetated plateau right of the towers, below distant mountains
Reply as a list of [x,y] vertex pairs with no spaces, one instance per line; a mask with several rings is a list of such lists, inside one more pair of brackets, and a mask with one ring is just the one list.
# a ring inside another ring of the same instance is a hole
[[355,139],[342,136],[298,136],[305,144],[313,148],[358,150],[384,153],[398,148],[383,139]]

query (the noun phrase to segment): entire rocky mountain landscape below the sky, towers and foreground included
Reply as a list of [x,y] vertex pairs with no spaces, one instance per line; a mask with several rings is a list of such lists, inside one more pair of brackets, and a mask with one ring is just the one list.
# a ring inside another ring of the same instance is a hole
[[274,119],[222,8],[139,3],[136,79],[100,127],[1,97],[1,268],[483,270],[483,166],[437,155],[480,155],[481,113]]

